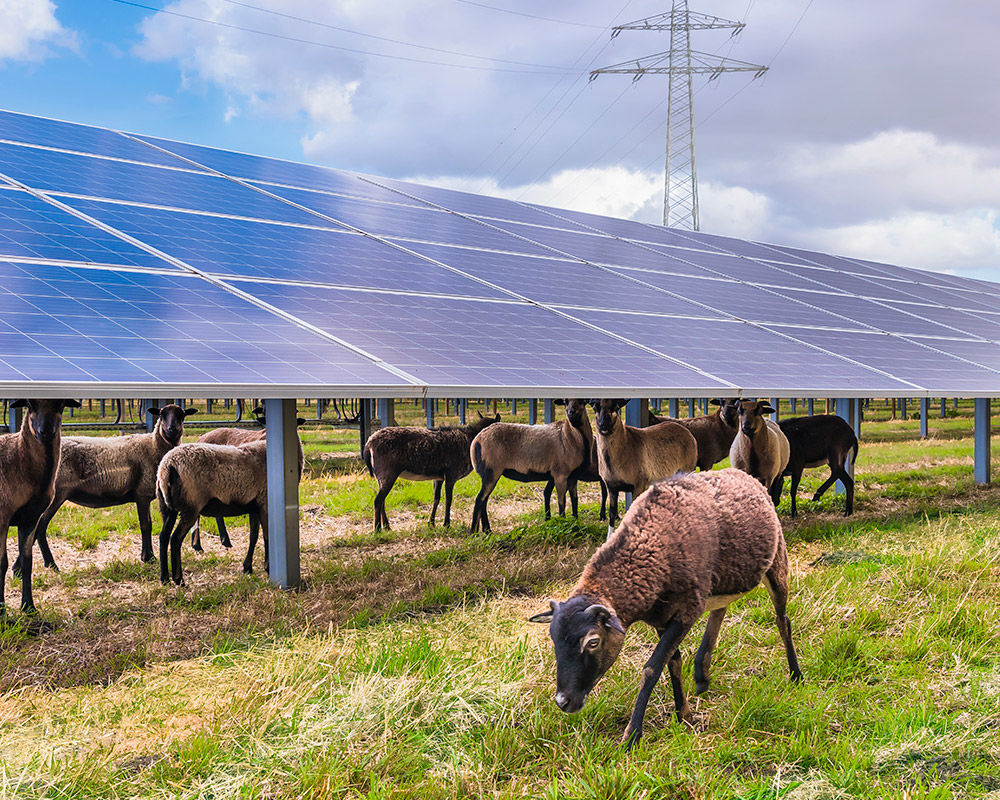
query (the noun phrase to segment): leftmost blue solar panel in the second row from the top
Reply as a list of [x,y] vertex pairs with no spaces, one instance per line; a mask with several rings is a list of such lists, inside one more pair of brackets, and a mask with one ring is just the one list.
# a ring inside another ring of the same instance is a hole
[[207,173],[0,144],[0,172],[43,191],[315,224],[317,218]]

